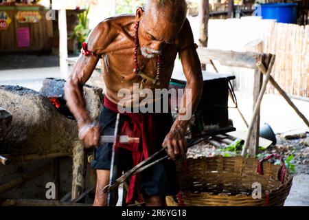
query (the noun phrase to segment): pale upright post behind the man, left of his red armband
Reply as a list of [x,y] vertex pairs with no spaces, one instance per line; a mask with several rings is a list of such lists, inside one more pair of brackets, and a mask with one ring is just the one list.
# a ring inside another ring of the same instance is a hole
[[67,12],[65,9],[58,11],[59,27],[59,58],[61,78],[67,79]]

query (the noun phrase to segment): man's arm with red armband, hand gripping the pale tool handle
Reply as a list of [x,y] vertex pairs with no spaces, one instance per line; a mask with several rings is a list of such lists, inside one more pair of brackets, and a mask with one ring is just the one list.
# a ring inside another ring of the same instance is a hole
[[[108,39],[111,39],[108,37],[108,29],[108,23],[102,22],[91,32],[87,40],[89,51],[97,55],[104,54],[104,48],[110,43]],[[78,122],[79,137],[86,147],[98,146],[100,133],[98,126],[93,125],[86,109],[82,87],[91,77],[99,60],[98,56],[80,54],[65,83],[67,105]]]

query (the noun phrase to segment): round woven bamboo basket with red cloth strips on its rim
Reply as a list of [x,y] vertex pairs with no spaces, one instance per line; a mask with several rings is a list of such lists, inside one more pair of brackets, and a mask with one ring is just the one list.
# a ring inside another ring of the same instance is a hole
[[[244,157],[198,157],[176,163],[181,206],[283,206],[293,177],[282,166]],[[260,186],[260,197],[257,192]],[[258,197],[258,198],[256,198]]]

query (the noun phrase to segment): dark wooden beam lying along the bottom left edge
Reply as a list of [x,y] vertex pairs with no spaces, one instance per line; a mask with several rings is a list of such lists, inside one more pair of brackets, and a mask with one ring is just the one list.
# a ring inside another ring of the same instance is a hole
[[2,199],[0,206],[92,206],[83,203],[68,203],[55,200],[38,199]]

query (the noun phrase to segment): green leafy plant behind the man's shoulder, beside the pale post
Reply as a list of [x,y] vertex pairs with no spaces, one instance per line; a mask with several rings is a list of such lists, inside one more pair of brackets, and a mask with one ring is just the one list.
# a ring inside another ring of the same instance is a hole
[[84,12],[78,14],[78,25],[74,28],[74,36],[78,43],[82,44],[86,41],[88,34],[90,33],[88,25],[89,8]]

